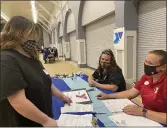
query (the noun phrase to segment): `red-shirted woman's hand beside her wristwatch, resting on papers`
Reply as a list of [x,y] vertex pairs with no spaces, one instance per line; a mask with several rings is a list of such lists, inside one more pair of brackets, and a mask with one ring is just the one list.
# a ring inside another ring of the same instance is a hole
[[123,108],[123,112],[128,115],[143,116],[142,107],[136,105],[127,105]]

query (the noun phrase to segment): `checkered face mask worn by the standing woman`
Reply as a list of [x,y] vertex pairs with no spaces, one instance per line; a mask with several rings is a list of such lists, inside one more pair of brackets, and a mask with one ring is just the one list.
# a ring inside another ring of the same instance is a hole
[[36,46],[35,40],[27,40],[26,42],[23,43],[22,48],[25,52],[29,53],[35,48],[35,46]]

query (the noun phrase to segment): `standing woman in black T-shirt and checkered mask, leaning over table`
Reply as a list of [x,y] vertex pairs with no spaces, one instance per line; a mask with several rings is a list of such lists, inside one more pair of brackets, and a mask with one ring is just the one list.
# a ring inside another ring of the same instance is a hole
[[71,100],[52,85],[35,46],[39,27],[15,16],[1,33],[0,127],[57,126],[52,119],[52,95]]

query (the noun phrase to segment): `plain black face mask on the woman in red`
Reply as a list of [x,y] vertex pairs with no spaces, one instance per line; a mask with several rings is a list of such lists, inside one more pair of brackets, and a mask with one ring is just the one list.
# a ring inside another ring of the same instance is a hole
[[144,63],[144,73],[148,76],[151,76],[151,75],[155,75],[155,74],[158,74],[159,72],[156,71],[156,68],[157,67],[160,67],[162,65],[158,65],[158,66],[149,66],[149,65],[146,65]]

